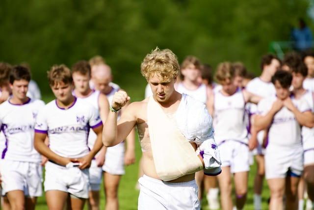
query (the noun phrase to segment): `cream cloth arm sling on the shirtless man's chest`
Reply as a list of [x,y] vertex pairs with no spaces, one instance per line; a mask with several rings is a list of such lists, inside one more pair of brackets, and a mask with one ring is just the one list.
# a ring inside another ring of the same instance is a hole
[[155,168],[161,180],[175,180],[203,169],[194,148],[153,97],[149,98],[147,118]]

